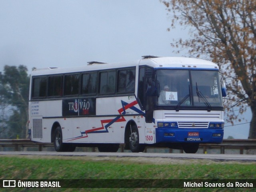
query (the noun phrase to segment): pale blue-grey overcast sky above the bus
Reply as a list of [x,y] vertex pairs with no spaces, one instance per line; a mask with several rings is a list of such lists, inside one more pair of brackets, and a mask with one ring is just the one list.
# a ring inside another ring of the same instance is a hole
[[[170,20],[159,0],[0,0],[0,71],[189,56],[170,46],[188,37],[180,27],[167,32]],[[229,135],[247,138],[248,124],[225,128]]]

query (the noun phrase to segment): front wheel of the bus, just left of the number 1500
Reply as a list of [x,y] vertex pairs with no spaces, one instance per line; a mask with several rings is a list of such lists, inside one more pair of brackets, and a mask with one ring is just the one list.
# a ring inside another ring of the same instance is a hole
[[143,152],[145,145],[140,144],[139,131],[136,125],[131,126],[130,134],[128,135],[130,150],[134,153]]

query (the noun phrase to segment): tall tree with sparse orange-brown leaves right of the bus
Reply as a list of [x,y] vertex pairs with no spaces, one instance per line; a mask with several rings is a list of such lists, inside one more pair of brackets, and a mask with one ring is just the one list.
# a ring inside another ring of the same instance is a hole
[[[189,26],[190,37],[172,43],[191,56],[216,62],[226,78],[228,121],[241,121],[252,110],[249,138],[256,138],[256,0],[162,0],[176,25]],[[239,113],[235,113],[239,110]]]

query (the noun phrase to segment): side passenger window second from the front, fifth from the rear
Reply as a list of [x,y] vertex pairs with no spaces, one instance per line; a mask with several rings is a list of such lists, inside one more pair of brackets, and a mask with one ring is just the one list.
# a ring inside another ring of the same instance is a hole
[[116,71],[100,73],[100,93],[114,93],[116,90]]

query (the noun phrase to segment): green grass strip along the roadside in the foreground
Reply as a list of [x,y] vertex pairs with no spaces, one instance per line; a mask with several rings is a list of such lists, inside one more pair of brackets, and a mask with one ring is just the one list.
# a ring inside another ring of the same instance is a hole
[[[209,160],[157,160],[154,158],[89,158],[0,156],[0,179],[256,179],[256,163]],[[6,191],[51,191],[8,189]],[[52,189],[52,191],[156,191],[156,189]],[[185,189],[230,191],[231,189]],[[250,191],[250,189],[247,189]],[[157,189],[184,191],[184,189]],[[235,189],[233,191],[236,191]],[[241,188],[237,191],[241,191]],[[251,190],[253,191],[253,190]]]

